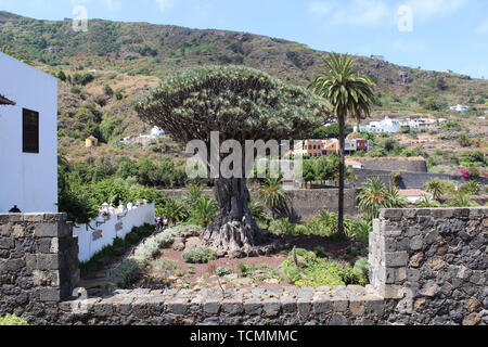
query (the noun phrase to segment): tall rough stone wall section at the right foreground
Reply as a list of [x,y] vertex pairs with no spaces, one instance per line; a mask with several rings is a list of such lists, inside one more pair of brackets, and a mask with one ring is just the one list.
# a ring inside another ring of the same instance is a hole
[[370,235],[370,280],[399,300],[388,323],[487,319],[488,208],[385,209]]

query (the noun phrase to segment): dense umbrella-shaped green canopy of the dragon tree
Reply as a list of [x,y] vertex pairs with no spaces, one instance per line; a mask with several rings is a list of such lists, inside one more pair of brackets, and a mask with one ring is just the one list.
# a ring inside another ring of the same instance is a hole
[[140,117],[181,142],[285,140],[323,124],[329,104],[300,87],[288,86],[244,66],[192,68],[162,81],[137,106]]

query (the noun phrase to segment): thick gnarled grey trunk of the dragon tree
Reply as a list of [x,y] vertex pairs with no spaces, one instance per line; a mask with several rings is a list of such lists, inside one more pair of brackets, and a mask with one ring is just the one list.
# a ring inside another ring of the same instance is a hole
[[246,179],[218,178],[215,185],[220,213],[203,234],[204,243],[229,255],[252,254],[268,240],[251,215]]

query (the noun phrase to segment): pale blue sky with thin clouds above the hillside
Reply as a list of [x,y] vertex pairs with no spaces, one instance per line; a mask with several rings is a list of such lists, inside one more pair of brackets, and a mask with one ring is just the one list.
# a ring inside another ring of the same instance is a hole
[[487,0],[0,0],[21,15],[217,28],[488,78]]

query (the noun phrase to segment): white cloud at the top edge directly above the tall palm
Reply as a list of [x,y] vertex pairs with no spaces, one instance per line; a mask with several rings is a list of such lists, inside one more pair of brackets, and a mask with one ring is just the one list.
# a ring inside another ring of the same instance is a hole
[[374,26],[388,17],[394,21],[395,12],[383,0],[312,1],[308,12],[324,17],[333,25]]

